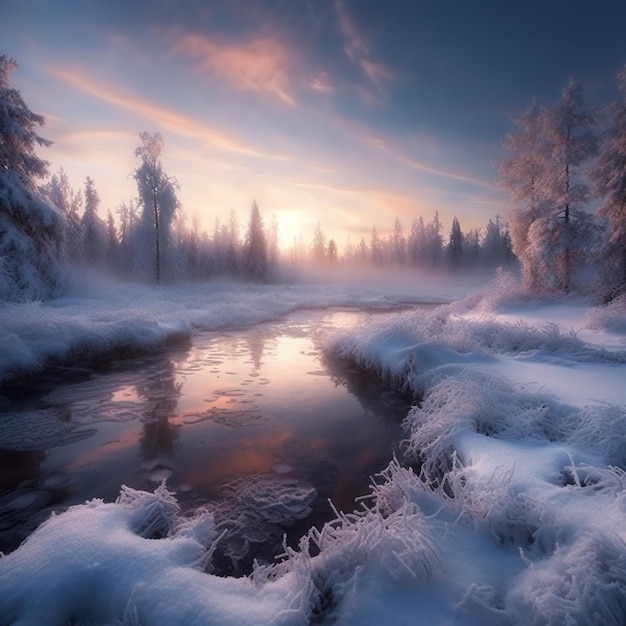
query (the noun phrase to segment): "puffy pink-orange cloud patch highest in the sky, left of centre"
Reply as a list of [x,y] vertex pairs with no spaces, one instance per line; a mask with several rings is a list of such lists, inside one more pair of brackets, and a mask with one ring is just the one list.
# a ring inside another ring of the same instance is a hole
[[271,37],[217,42],[197,33],[170,34],[171,52],[197,62],[201,72],[218,77],[237,91],[270,94],[296,104],[290,81],[293,52]]

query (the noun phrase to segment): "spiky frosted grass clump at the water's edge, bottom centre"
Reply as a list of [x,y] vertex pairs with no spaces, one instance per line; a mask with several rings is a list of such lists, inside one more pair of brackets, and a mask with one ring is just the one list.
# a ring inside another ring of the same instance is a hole
[[429,521],[411,497],[423,493],[423,487],[413,472],[395,461],[380,476],[382,484],[372,485],[359,510],[335,509],[336,518],[321,530],[311,528],[298,551],[286,547],[281,563],[257,566],[253,572],[257,584],[295,574],[307,589],[303,606],[310,615],[332,619],[335,609],[354,592],[358,576],[429,580],[441,560]]

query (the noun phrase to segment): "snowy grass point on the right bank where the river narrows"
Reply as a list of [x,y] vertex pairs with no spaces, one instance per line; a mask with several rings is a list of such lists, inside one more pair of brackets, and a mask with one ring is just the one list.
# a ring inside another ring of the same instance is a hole
[[626,363],[626,351],[590,345],[557,324],[529,325],[495,318],[459,317],[446,307],[411,311],[377,320],[366,327],[342,330],[323,340],[332,357],[375,372],[383,382],[422,395],[442,377],[475,365],[498,366],[498,358],[533,357],[548,362]]

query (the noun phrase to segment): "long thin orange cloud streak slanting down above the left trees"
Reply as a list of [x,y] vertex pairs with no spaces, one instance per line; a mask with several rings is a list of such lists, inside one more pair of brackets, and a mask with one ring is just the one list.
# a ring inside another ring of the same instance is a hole
[[286,159],[283,155],[268,154],[258,150],[217,128],[202,124],[171,109],[158,106],[133,95],[122,94],[113,86],[102,86],[101,83],[96,84],[80,72],[63,68],[52,68],[51,72],[73,88],[103,102],[108,102],[121,109],[131,111],[171,133],[200,139],[228,152],[259,158]]

